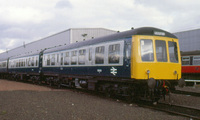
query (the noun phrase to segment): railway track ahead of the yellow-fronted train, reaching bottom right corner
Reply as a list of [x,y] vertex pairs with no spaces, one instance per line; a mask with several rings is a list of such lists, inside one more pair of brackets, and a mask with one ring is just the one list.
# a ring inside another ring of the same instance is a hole
[[157,105],[153,105],[152,102],[139,102],[138,106],[155,109],[163,112],[167,112],[170,114],[180,115],[184,117],[188,117],[193,120],[200,120],[200,109],[184,106],[184,105],[170,105],[166,103],[158,103]]

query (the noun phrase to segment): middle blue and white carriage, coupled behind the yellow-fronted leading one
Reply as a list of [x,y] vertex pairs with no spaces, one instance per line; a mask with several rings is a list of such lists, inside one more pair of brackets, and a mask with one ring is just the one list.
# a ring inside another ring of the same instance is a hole
[[14,80],[39,80],[39,52],[29,55],[11,57],[8,73]]

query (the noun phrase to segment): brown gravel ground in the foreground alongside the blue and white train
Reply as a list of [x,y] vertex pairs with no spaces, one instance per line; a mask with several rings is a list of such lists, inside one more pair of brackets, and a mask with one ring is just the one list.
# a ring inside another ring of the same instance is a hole
[[189,120],[98,96],[0,80],[0,120]]

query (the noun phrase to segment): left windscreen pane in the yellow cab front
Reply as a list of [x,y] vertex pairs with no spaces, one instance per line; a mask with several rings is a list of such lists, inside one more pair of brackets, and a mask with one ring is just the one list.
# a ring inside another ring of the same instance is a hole
[[150,39],[140,40],[142,61],[154,61],[153,44]]

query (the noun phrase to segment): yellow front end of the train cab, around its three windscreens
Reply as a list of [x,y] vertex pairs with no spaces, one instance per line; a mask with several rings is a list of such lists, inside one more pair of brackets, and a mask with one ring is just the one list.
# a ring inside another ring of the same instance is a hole
[[[151,39],[153,43],[153,61],[142,61],[141,58],[141,39]],[[167,61],[159,62],[156,57],[155,40],[166,41]],[[168,41],[177,43],[178,62],[170,62]],[[178,80],[181,78],[181,59],[179,52],[178,39],[162,36],[132,36],[131,50],[131,78],[138,80],[147,80],[154,78],[156,80]]]

